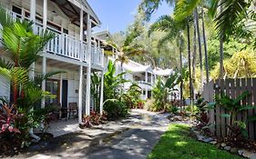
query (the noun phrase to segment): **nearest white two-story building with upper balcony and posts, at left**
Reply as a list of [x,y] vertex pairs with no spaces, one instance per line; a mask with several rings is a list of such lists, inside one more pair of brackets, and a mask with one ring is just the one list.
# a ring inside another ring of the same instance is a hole
[[[104,71],[103,49],[92,40],[92,28],[100,25],[100,21],[87,0],[1,0],[1,5],[14,19],[33,21],[35,34],[44,29],[56,34],[46,45],[40,60],[31,66],[34,71],[30,76],[64,71],[43,82],[42,90],[55,94],[56,99],[43,101],[42,107],[46,104],[68,107],[75,103],[81,123],[82,114],[90,114],[90,75],[93,71],[101,72],[103,79]],[[0,96],[9,99],[9,88],[2,87]],[[102,113],[103,86],[100,93]]]

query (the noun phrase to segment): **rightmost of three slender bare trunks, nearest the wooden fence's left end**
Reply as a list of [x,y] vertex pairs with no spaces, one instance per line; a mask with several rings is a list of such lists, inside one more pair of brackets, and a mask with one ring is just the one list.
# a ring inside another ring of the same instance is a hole
[[204,45],[204,58],[205,58],[205,71],[206,71],[206,82],[209,82],[209,65],[208,65],[208,53],[207,53],[207,42],[206,35],[204,29],[204,11],[203,7],[201,7],[201,21],[202,21],[202,35],[203,35],[203,45]]

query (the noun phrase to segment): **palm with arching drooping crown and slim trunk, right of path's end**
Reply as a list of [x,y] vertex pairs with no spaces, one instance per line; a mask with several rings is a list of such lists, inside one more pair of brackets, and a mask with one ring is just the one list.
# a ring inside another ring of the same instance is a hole
[[[176,39],[176,45],[179,47],[179,65],[180,65],[180,79],[183,78],[183,65],[182,65],[182,53],[184,51],[184,29],[186,28],[186,22],[177,22],[170,15],[162,15],[159,19],[153,24],[150,25],[148,29],[148,35],[151,35],[155,31],[166,32],[165,35],[159,41],[159,49],[160,46],[166,42],[172,42]],[[183,101],[183,80],[180,80],[180,104],[181,106]]]

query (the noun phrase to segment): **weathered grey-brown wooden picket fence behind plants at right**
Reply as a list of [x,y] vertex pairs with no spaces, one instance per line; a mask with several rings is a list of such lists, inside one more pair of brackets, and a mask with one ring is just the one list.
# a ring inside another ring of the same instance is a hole
[[[211,81],[203,87],[203,97],[208,102],[214,102],[216,95],[220,92],[230,96],[234,99],[241,93],[249,91],[250,95],[241,101],[242,105],[255,105],[256,106],[256,78],[241,78],[241,79],[220,79]],[[225,114],[227,111],[217,106],[216,109],[210,110],[210,123],[214,124],[211,131],[219,137],[227,135],[228,119],[220,117],[220,114]],[[248,110],[237,116],[238,120],[245,121],[248,116],[256,114],[256,109]],[[247,123],[247,131],[250,140],[256,140],[256,122]]]

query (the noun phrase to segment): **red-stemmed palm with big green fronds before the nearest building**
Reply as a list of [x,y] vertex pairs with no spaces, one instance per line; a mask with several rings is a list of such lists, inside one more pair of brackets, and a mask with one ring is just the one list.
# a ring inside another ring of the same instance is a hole
[[[43,32],[41,35],[35,35],[32,29],[32,22],[14,20],[6,13],[3,7],[0,7],[0,24],[3,27],[1,33],[3,50],[5,50],[4,55],[9,57],[15,69],[28,70],[30,65],[40,57],[40,52],[46,43],[55,36],[48,31]],[[15,103],[19,96],[17,90],[18,80],[14,76],[13,93]]]

